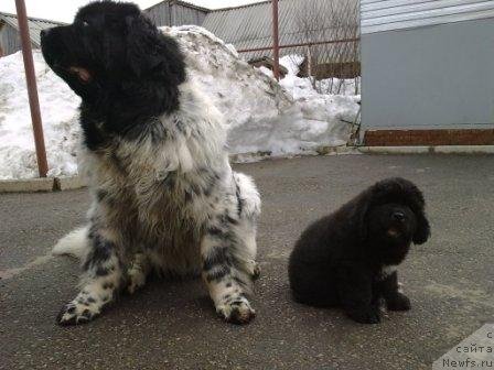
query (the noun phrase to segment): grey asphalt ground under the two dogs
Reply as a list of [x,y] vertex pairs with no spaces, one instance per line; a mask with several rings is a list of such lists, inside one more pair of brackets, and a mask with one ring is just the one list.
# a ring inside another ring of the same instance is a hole
[[[236,167],[256,178],[264,200],[257,317],[244,327],[216,318],[198,281],[154,281],[89,325],[56,326],[78,269],[45,255],[83,221],[86,191],[0,195],[0,368],[427,369],[494,320],[494,156],[319,156]],[[293,303],[287,257],[304,226],[397,175],[423,188],[433,232],[400,270],[412,311],[364,326]]]

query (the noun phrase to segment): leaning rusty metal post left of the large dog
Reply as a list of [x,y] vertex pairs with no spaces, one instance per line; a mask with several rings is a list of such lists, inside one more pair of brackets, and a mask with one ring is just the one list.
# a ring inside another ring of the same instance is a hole
[[49,164],[44,146],[43,124],[41,122],[40,101],[37,99],[36,75],[34,74],[33,53],[31,50],[31,37],[29,35],[28,14],[24,0],[15,0],[18,11],[19,31],[22,41],[22,57],[24,58],[25,80],[28,83],[29,106],[33,123],[34,144],[36,148],[37,170],[40,177],[46,177]]

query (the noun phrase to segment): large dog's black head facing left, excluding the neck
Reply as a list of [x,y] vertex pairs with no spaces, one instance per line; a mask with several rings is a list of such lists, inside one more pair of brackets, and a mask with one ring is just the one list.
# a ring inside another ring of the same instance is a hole
[[118,95],[131,80],[179,85],[185,79],[176,43],[133,3],[96,1],[69,25],[44,30],[41,48],[50,67],[83,100]]

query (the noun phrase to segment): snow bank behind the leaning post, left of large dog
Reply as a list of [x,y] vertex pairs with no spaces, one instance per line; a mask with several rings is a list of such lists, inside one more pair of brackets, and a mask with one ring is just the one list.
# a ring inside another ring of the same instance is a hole
[[[37,92],[50,176],[77,173],[79,98],[34,51]],[[37,176],[22,54],[0,58],[0,178]]]

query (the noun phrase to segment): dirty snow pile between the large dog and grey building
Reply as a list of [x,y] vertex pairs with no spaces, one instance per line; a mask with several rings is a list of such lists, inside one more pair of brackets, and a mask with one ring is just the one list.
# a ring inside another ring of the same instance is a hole
[[343,120],[354,120],[358,97],[300,92],[297,57],[291,64],[284,59],[290,73],[278,84],[270,70],[253,68],[202,28],[163,31],[181,40],[191,74],[224,112],[230,153],[299,154],[347,142],[350,126]]

